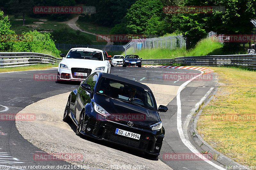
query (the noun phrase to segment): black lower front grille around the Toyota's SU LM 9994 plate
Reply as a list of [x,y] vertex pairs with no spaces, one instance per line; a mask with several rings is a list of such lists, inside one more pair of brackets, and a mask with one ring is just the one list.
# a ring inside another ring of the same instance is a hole
[[102,138],[118,144],[131,146],[131,147],[138,148],[145,151],[148,150],[147,148],[148,148],[149,140],[146,140],[144,135],[140,135],[140,140],[138,140],[138,139],[132,139],[130,137],[117,135],[115,134],[115,131],[116,131],[115,127],[105,126],[105,130]]

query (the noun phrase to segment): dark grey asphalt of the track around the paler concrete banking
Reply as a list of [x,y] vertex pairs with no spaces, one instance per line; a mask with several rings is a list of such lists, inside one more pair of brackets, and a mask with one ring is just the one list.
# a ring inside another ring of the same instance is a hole
[[[0,73],[1,79],[1,98],[0,98],[0,114],[11,113],[16,114],[26,106],[57,94],[70,92],[79,86],[79,83],[65,83],[58,84],[55,81],[35,81],[34,74],[56,74],[55,70],[36,70],[36,71],[19,71],[10,73]],[[165,68],[137,68],[137,67],[114,67],[111,73],[122,76],[141,83],[162,84],[162,85],[176,85],[180,86],[187,81],[187,79],[164,79],[163,75],[177,75],[188,74],[196,76],[201,72],[198,70],[183,70],[183,69],[165,69]],[[204,95],[213,87],[216,86],[215,76],[210,73],[212,78],[208,80],[193,80],[181,92],[181,120],[182,125],[190,114],[191,109],[196,103],[204,97]],[[165,128],[165,140],[159,155],[159,159],[174,170],[194,170],[194,169],[218,169],[211,166],[204,160],[188,160],[188,159],[166,159],[167,153],[176,154],[193,154],[188,147],[181,141],[177,129],[177,98],[167,105],[169,111],[160,113],[163,126]],[[183,125],[184,127],[184,125]],[[183,129],[187,133],[187,129]],[[40,131],[35,134],[40,136]],[[193,141],[190,141],[193,144]],[[193,144],[194,145],[194,144]],[[194,145],[199,152],[200,147]],[[70,167],[71,164],[65,161],[37,161],[33,159],[35,153],[42,153],[43,151],[36,148],[25,140],[15,126],[15,121],[0,121],[0,166],[12,165],[65,165]],[[133,154],[133,152],[131,152]],[[134,151],[134,155],[136,155]],[[168,157],[170,158],[170,157]],[[117,158],[118,159],[118,158]],[[220,165],[216,161],[213,163]],[[4,169],[4,167],[0,167]],[[7,168],[5,168],[7,169]],[[13,168],[15,169],[15,168]],[[16,168],[17,169],[17,168]],[[50,168],[48,168],[50,169]],[[57,168],[55,168],[57,169]],[[59,168],[61,169],[61,168]],[[71,169],[71,168],[69,168]],[[158,169],[158,167],[156,167]]]

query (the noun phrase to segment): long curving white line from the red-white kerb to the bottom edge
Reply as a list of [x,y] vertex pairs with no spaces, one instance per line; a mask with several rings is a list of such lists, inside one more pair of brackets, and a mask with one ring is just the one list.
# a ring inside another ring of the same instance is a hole
[[[200,70],[201,71],[201,70]],[[184,133],[183,133],[183,129],[182,129],[182,121],[181,121],[181,101],[180,101],[180,92],[181,90],[186,86],[188,85],[188,83],[190,83],[192,80],[194,80],[195,78],[201,76],[204,72],[201,71],[201,74],[189,79],[188,81],[186,81],[185,83],[183,83],[182,85],[180,85],[178,91],[177,91],[177,129],[178,129],[178,132],[179,132],[179,135],[180,135],[180,139],[181,141],[183,142],[183,144],[185,144],[185,146],[188,147],[188,149],[195,153],[195,154],[198,154],[199,152],[196,150],[196,148],[190,143],[189,140],[186,139]],[[205,158],[204,160],[205,162],[207,162],[208,164],[214,166],[215,168],[219,169],[219,170],[225,170],[225,168],[222,168],[216,164],[214,164],[212,161],[208,160],[207,158]]]

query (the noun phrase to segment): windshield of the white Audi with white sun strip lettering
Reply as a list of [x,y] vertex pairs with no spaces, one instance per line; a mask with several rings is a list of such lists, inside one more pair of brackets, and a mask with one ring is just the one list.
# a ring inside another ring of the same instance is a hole
[[70,50],[67,58],[76,59],[89,59],[89,60],[100,60],[103,61],[102,53],[100,51],[93,51],[87,49],[74,49]]

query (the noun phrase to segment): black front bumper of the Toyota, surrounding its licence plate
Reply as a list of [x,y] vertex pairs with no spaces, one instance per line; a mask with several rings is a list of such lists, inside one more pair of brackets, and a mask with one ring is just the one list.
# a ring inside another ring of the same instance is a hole
[[[88,131],[87,128],[91,130]],[[116,129],[140,134],[140,139],[133,139],[115,134]],[[148,154],[159,155],[164,139],[164,128],[152,131],[149,128],[129,127],[123,122],[97,121],[90,118],[82,134],[100,140],[107,140],[116,144],[132,147]]]

